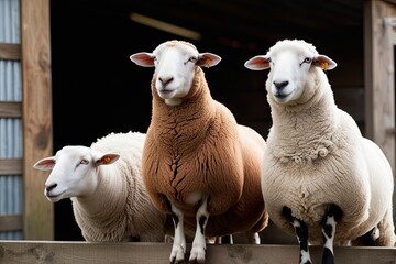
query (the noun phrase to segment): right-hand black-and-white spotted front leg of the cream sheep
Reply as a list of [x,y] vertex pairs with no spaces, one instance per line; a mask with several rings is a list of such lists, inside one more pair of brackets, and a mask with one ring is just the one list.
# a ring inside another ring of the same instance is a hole
[[338,206],[331,206],[322,222],[323,255],[322,264],[334,264],[333,242],[337,222],[341,219],[342,211]]

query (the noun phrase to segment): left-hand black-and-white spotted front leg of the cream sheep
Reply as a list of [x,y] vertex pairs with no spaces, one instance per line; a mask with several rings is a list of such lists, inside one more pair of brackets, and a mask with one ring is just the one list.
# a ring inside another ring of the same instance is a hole
[[295,228],[295,232],[300,246],[299,264],[312,264],[308,246],[308,227],[307,224],[293,217],[292,209],[288,207],[283,208],[283,216],[286,217]]

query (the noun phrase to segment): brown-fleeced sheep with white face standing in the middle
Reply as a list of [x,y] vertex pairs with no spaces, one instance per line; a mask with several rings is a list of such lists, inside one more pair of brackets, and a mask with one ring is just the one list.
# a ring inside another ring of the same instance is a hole
[[184,226],[196,230],[189,260],[198,263],[205,262],[205,237],[245,232],[260,243],[257,232],[268,221],[260,186],[265,141],[212,99],[201,66],[221,58],[183,41],[130,58],[155,67],[142,172],[154,205],[174,219],[170,262],[184,260]]

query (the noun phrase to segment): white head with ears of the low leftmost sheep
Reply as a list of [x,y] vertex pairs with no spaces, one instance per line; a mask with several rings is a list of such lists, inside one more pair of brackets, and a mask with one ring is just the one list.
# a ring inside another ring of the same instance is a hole
[[70,197],[81,197],[95,191],[97,167],[112,164],[118,154],[102,154],[86,146],[64,146],[55,156],[37,161],[33,167],[51,170],[45,182],[44,195],[53,202]]

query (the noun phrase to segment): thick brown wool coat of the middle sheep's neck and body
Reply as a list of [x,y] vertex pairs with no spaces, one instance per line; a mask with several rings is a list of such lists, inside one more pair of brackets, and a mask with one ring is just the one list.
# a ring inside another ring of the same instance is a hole
[[164,103],[155,92],[155,78],[152,124],[142,160],[143,180],[154,205],[170,213],[166,196],[187,212],[185,223],[195,230],[197,208],[187,197],[207,193],[210,217],[206,235],[230,234],[253,226],[256,231],[264,229],[268,219],[257,164],[265,141],[252,129],[238,125],[230,110],[211,98],[200,67],[179,106]]

